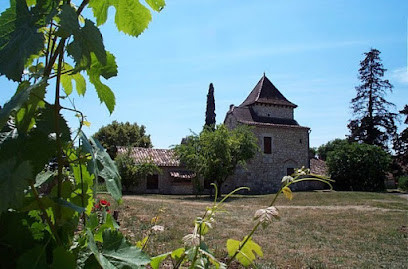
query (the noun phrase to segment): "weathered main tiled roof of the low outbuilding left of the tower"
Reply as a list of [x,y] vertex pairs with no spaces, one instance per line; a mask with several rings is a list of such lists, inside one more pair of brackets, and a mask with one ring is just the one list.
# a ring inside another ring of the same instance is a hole
[[[126,147],[118,147],[118,153],[125,153]],[[157,166],[180,166],[172,149],[152,149],[152,148],[131,148],[130,156],[136,163],[142,163],[151,160]]]

